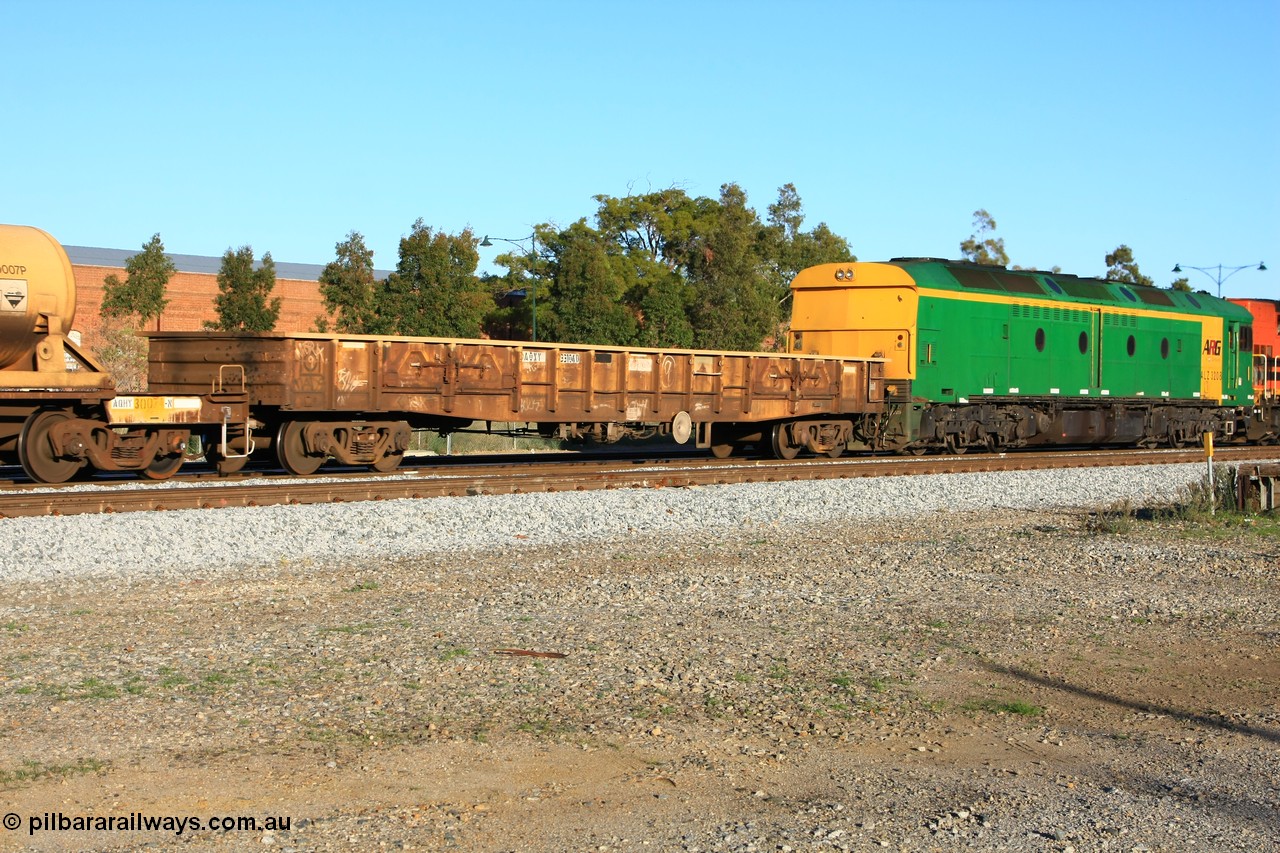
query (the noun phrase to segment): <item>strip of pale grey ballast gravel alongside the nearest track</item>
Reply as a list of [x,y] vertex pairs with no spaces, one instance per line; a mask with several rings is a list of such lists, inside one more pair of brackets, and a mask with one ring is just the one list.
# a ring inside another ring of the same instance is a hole
[[[864,478],[690,489],[506,494],[431,501],[0,519],[0,579],[187,576],[301,560],[412,557],[631,535],[721,535],[945,511],[1169,503],[1201,465]],[[175,534],[177,532],[177,534]],[[175,547],[175,535],[179,547]]]

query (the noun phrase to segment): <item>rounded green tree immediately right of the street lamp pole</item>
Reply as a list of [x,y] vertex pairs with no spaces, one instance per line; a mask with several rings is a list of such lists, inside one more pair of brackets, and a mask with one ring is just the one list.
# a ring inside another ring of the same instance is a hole
[[[636,337],[636,315],[625,301],[622,257],[609,256],[608,241],[585,220],[556,236],[547,339],[626,346]],[[540,320],[541,318],[539,318]]]

